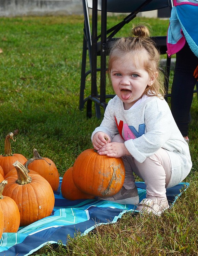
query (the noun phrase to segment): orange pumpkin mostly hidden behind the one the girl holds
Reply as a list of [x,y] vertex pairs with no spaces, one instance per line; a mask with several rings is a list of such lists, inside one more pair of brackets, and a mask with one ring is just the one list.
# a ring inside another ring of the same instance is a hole
[[94,196],[86,194],[76,187],[72,178],[72,169],[73,167],[70,167],[63,175],[61,184],[62,196],[69,200],[94,199]]

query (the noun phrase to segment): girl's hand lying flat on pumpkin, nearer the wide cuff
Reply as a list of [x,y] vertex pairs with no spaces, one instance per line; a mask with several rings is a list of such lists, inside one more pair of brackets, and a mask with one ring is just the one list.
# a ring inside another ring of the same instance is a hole
[[123,156],[131,156],[124,143],[111,142],[103,145],[98,153],[100,155],[107,155],[108,157],[120,158]]

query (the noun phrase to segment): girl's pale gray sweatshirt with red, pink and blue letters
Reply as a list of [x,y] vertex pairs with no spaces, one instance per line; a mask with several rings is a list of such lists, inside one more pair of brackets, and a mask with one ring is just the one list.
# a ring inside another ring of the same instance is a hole
[[119,133],[131,156],[140,163],[164,148],[171,162],[168,187],[180,183],[192,168],[188,144],[165,99],[146,97],[138,106],[125,110],[123,102],[116,95],[109,101],[102,123],[91,139],[99,131],[107,133],[111,139]]

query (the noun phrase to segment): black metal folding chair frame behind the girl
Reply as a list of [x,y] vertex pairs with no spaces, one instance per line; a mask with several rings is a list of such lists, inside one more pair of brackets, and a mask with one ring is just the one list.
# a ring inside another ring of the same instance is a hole
[[[160,8],[173,6],[171,0],[123,0],[122,6],[117,0],[82,0],[84,11],[84,36],[83,36],[83,53],[82,53],[82,68],[81,68],[81,85],[80,85],[80,105],[82,110],[87,103],[87,117],[92,116],[92,102],[95,104],[96,117],[100,118],[100,107],[104,109],[107,106],[106,99],[113,98],[115,95],[106,95],[106,58],[108,55],[108,46],[116,33],[121,28],[132,21],[139,12],[158,10]],[[131,4],[133,2],[133,4]],[[89,11],[92,9],[90,30]],[[129,10],[129,11],[128,11]],[[101,33],[97,34],[98,30],[98,11],[101,11]],[[129,13],[121,22],[107,30],[107,12]],[[152,37],[160,54],[166,54],[166,36]],[[90,70],[86,71],[87,51],[89,57]],[[97,56],[100,56],[100,68],[97,68]],[[169,74],[170,74],[171,58],[166,60],[165,74],[165,89],[168,95]],[[100,93],[97,86],[97,72],[100,71]],[[84,98],[86,77],[91,74],[91,94]]]

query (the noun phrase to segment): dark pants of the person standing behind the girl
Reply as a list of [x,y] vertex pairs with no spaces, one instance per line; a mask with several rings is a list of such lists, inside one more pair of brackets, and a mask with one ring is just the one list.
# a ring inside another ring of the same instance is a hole
[[190,107],[197,79],[193,76],[198,58],[188,44],[176,53],[175,72],[171,90],[171,111],[182,135],[188,135]]

